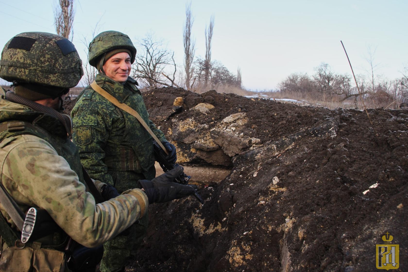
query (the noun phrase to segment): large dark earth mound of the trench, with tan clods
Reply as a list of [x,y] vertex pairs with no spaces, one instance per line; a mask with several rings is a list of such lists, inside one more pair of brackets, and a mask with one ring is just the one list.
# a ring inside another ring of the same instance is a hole
[[204,205],[151,205],[126,271],[375,271],[386,232],[399,245],[395,271],[408,269],[408,110],[172,87],[143,95],[185,171],[227,175],[193,181]]

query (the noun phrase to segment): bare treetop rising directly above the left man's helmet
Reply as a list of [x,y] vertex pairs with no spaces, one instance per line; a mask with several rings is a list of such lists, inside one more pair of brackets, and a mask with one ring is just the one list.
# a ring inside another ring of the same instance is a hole
[[74,22],[73,0],[58,0],[54,9],[54,25],[58,35],[71,40],[73,38],[72,24]]

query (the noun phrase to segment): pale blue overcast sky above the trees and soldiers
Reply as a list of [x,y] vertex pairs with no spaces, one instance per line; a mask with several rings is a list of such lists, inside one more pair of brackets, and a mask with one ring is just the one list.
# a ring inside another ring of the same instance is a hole
[[[56,0],[0,0],[0,46],[26,31],[55,33]],[[73,43],[86,61],[81,42],[98,33],[121,31],[136,44],[149,31],[166,41],[183,64],[185,0],[74,0]],[[366,74],[368,50],[375,73],[401,77],[408,64],[408,1],[393,0],[192,0],[196,56],[205,55],[204,30],[215,17],[212,60],[232,73],[240,67],[243,85],[251,90],[277,88],[291,73],[313,75],[328,63],[336,73],[351,75],[340,40],[356,74]]]

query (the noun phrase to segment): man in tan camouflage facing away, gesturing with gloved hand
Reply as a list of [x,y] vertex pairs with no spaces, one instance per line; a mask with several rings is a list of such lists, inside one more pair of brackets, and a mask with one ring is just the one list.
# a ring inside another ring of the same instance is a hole
[[122,195],[95,181],[104,199],[95,203],[84,184],[78,149],[69,140],[71,118],[59,112],[82,75],[75,47],[61,36],[21,33],[4,46],[0,77],[13,82],[14,92],[0,88],[0,183],[23,212],[43,209],[56,227],[23,244],[16,239],[21,232],[10,210],[0,200],[0,271],[71,271],[65,252],[70,237],[98,247],[144,218],[149,203],[194,192],[171,182],[181,173],[179,168],[151,181],[140,180],[142,186],[134,187],[144,191],[131,188]]

